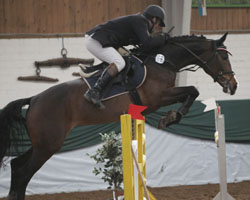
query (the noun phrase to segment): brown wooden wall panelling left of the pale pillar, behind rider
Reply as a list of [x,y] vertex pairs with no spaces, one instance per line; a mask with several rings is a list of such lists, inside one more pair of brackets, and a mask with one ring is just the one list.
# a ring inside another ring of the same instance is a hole
[[161,0],[0,0],[0,34],[84,33]]

